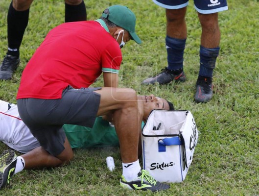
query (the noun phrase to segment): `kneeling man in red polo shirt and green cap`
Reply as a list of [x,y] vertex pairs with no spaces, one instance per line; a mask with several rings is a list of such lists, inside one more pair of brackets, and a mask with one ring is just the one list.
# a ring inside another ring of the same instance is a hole
[[[138,145],[143,114],[133,89],[116,88],[120,49],[131,39],[141,44],[135,25],[131,10],[114,5],[97,21],[66,23],[48,33],[25,67],[17,95],[19,114],[41,145],[41,159],[28,154],[16,161],[14,155],[6,155],[13,161],[2,173],[11,171],[15,161],[27,169],[68,163],[73,152],[63,124],[92,127],[96,116],[106,115],[114,119],[120,143],[120,185],[151,191],[169,188],[141,172]],[[88,88],[102,72],[104,88]]]

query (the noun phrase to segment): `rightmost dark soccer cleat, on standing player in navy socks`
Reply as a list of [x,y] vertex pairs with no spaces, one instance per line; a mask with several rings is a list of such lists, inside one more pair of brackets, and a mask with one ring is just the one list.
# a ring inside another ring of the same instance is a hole
[[196,82],[195,101],[205,103],[212,99],[212,78],[199,76]]

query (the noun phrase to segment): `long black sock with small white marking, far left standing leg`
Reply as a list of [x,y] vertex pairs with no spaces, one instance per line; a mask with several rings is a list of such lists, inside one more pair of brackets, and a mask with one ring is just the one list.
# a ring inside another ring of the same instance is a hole
[[29,10],[16,11],[11,2],[7,14],[7,35],[8,50],[7,54],[19,56],[20,46],[23,41],[24,31],[29,21]]

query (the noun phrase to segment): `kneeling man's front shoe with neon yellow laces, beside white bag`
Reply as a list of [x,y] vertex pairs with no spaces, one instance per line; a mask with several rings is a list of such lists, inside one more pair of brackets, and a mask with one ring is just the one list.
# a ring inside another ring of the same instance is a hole
[[146,170],[139,172],[138,177],[130,182],[127,182],[122,175],[120,178],[120,186],[130,190],[150,190],[152,192],[162,191],[170,188],[168,184],[163,184],[156,181]]

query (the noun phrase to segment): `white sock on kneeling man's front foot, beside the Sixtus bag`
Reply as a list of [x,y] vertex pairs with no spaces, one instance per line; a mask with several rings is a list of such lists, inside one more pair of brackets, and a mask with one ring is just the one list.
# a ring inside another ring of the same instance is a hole
[[134,180],[138,177],[138,173],[141,171],[139,159],[133,163],[122,163],[122,175],[127,182]]

